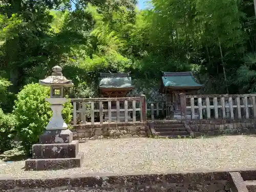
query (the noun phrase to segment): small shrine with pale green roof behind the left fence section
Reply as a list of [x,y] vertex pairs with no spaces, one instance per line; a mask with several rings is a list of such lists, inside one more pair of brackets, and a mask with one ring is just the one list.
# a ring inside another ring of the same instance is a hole
[[[99,93],[101,97],[125,97],[132,91],[134,86],[129,73],[100,73]],[[104,109],[108,109],[108,103],[104,103]],[[116,102],[111,103],[111,108],[116,109]],[[120,101],[120,108],[124,108],[124,103]],[[116,120],[116,112],[112,112],[111,119]],[[108,113],[104,120],[109,120]],[[124,120],[124,112],[120,112],[120,121]],[[131,119],[129,119],[131,120]]]

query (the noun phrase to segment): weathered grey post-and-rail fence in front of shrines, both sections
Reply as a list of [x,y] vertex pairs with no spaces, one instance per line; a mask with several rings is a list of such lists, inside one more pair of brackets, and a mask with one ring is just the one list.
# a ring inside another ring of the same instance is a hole
[[[179,96],[180,103],[178,109],[166,103],[166,100],[146,101],[144,95],[122,98],[71,99],[74,108],[73,122],[76,124],[76,117],[78,119],[81,117],[80,122],[86,122],[88,114],[90,115],[88,120],[92,124],[94,124],[95,120],[103,123],[103,120],[108,121],[108,119],[109,122],[120,122],[119,115],[121,119],[125,118],[124,122],[135,122],[136,119],[137,121],[146,121],[147,115],[151,120],[154,120],[156,117],[159,118],[161,115],[165,115],[166,118],[175,117],[181,119],[256,118],[256,94],[179,94]],[[138,119],[138,114],[140,114],[140,119]]]

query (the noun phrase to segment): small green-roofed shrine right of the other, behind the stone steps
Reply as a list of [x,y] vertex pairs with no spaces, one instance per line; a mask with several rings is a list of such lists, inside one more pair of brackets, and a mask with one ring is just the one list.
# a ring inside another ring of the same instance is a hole
[[166,94],[166,105],[172,106],[170,118],[181,118],[180,93],[196,94],[203,86],[191,72],[162,72],[160,92]]

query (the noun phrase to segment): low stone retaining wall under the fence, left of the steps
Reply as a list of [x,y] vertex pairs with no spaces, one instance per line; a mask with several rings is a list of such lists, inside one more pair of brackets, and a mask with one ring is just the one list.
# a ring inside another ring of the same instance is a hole
[[74,139],[79,138],[130,138],[146,137],[148,134],[147,122],[137,123],[108,123],[95,125],[74,125]]

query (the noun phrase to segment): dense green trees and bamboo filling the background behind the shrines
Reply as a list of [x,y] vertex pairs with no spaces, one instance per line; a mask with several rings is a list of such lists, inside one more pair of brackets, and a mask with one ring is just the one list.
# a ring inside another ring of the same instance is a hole
[[[74,82],[72,97],[97,96],[99,72],[132,71],[133,79],[147,82],[159,80],[161,71],[193,70],[191,64],[199,66],[204,93],[254,89],[256,69],[242,59],[256,51],[252,2],[152,0],[153,8],[143,11],[134,0],[74,2],[72,10],[69,0],[1,4],[0,70],[10,92],[45,78],[56,63]],[[239,86],[237,70],[245,76]]]

